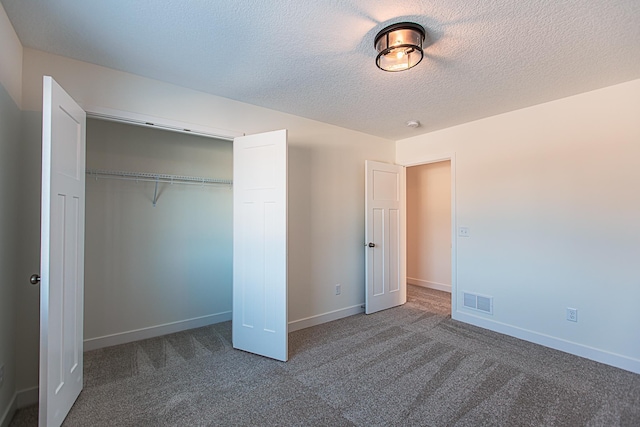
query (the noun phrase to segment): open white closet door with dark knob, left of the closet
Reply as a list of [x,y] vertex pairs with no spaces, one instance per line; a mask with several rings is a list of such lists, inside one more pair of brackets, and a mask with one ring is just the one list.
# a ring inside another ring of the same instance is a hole
[[40,426],[62,424],[82,390],[85,112],[44,77]]

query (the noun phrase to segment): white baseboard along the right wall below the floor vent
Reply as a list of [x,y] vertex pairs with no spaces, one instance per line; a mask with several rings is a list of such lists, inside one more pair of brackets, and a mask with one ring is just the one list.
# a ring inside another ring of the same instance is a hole
[[461,311],[453,312],[451,317],[454,320],[469,323],[480,328],[489,329],[494,332],[520,338],[525,341],[540,344],[545,347],[564,351],[565,353],[595,360],[596,362],[640,374],[640,359],[633,359],[621,354],[611,353],[561,338],[552,337],[550,335],[530,331],[528,329],[507,325],[506,323],[496,322],[495,320],[485,319],[484,317],[474,316]]

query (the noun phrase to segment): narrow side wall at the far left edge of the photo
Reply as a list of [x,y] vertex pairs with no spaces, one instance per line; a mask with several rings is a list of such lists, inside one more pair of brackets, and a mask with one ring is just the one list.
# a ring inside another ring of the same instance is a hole
[[[15,410],[17,289],[29,286],[18,275],[19,208],[16,181],[20,169],[22,46],[0,5],[0,425]],[[23,278],[24,279],[24,278]]]

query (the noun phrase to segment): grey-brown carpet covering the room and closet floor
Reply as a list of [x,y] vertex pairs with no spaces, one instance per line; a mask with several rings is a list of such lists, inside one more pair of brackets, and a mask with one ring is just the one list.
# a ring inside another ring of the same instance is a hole
[[449,298],[411,286],[291,333],[287,363],[233,350],[230,323],[88,352],[64,425],[640,426],[640,375],[453,321]]

